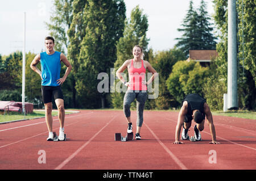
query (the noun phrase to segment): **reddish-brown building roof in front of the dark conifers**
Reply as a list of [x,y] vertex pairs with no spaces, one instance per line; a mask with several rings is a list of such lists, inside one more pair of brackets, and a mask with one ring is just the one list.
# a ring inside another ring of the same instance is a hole
[[216,50],[189,50],[189,57],[187,61],[210,62],[214,57],[217,57]]

